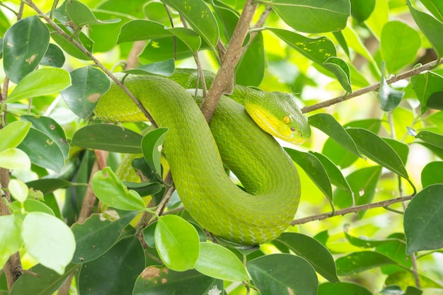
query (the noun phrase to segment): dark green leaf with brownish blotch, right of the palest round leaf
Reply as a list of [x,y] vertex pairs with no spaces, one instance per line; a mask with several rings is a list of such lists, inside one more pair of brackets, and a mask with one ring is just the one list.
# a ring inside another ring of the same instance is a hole
[[122,231],[138,212],[105,211],[92,214],[82,224],[74,224],[76,251],[72,262],[85,263],[105,254],[117,242]]

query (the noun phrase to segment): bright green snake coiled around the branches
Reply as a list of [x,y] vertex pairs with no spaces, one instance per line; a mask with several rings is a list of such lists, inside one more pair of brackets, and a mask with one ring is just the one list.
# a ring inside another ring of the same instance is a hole
[[[195,71],[188,69],[177,69],[169,79],[125,79],[156,124],[169,129],[162,152],[192,218],[234,243],[272,241],[294,219],[300,180],[292,159],[270,134],[300,143],[311,135],[307,119],[288,94],[235,86],[229,98],[219,100],[208,127],[195,97],[185,90],[195,85]],[[109,122],[147,120],[115,84],[100,98],[95,112]],[[229,178],[224,165],[242,188]]]

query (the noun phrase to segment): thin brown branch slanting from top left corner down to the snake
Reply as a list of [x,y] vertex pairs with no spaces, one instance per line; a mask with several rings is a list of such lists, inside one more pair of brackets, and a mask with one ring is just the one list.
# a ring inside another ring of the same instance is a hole
[[55,31],[57,32],[57,34],[61,35],[62,37],[64,37],[66,40],[68,40],[69,42],[71,42],[72,45],[74,45],[75,47],[77,47],[83,54],[85,54],[87,57],[89,57],[94,64],[96,64],[96,66],[98,66],[102,71],[105,72],[105,74],[108,75],[108,77],[114,81],[115,84],[117,84],[117,86],[119,86],[120,88],[122,88],[122,91],[125,91],[125,93],[127,94],[127,96],[129,96],[131,98],[131,100],[137,105],[137,107],[142,110],[143,115],[149,120],[149,122],[151,122],[151,124],[154,127],[157,127],[156,122],[154,121],[154,118],[151,117],[151,115],[149,114],[149,112],[144,108],[144,106],[142,105],[142,103],[140,103],[140,101],[135,98],[135,96],[131,93],[131,91],[122,83],[122,81],[120,81],[119,79],[117,79],[116,76],[114,76],[113,73],[111,73],[108,69],[106,69],[105,66],[103,66],[103,64],[98,61],[98,59],[96,59],[96,57],[93,56],[93,54],[91,54],[91,52],[88,52],[88,50],[86,50],[86,48],[81,45],[81,43],[77,42],[76,40],[74,40],[71,36],[69,36],[67,33],[64,33],[64,31],[62,30],[62,28],[60,28],[57,23],[54,23],[54,21],[52,21],[52,19],[49,16],[46,16],[45,13],[43,13],[40,8],[38,8],[38,6],[35,5],[35,3],[32,0],[26,0],[26,3],[33,8],[39,15],[41,18],[45,19],[45,21],[47,21],[47,23],[49,23],[52,28],[55,29]]

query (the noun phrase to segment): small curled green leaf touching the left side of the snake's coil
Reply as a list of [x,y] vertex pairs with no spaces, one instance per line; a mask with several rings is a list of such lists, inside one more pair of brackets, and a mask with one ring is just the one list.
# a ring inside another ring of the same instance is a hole
[[143,156],[154,173],[161,176],[161,146],[168,128],[157,128],[148,132],[142,139]]

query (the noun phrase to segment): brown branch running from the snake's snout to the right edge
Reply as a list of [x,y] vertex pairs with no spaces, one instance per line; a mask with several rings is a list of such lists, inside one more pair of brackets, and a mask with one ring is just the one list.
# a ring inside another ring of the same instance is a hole
[[[414,69],[410,69],[409,71],[405,71],[402,74],[392,76],[391,78],[386,80],[386,83],[391,84],[391,83],[394,83],[394,82],[402,80],[402,79],[410,78],[411,76],[420,74],[422,71],[430,70],[433,67],[435,67],[439,64],[442,64],[442,62],[443,62],[443,59],[439,59],[438,61],[434,60],[432,62],[428,62],[427,64],[423,64],[422,66],[418,66]],[[354,91],[348,95],[338,96],[337,98],[333,98],[330,100],[323,101],[321,103],[316,103],[315,105],[309,105],[307,107],[301,108],[301,112],[306,113],[306,112],[312,112],[313,110],[318,110],[321,108],[327,108],[327,107],[330,107],[331,105],[341,103],[342,101],[350,100],[351,98],[355,98],[357,96],[362,96],[363,94],[369,93],[371,91],[376,91],[379,88],[380,88],[380,82],[377,82],[377,83],[372,84],[370,86],[360,88],[357,91]]]

